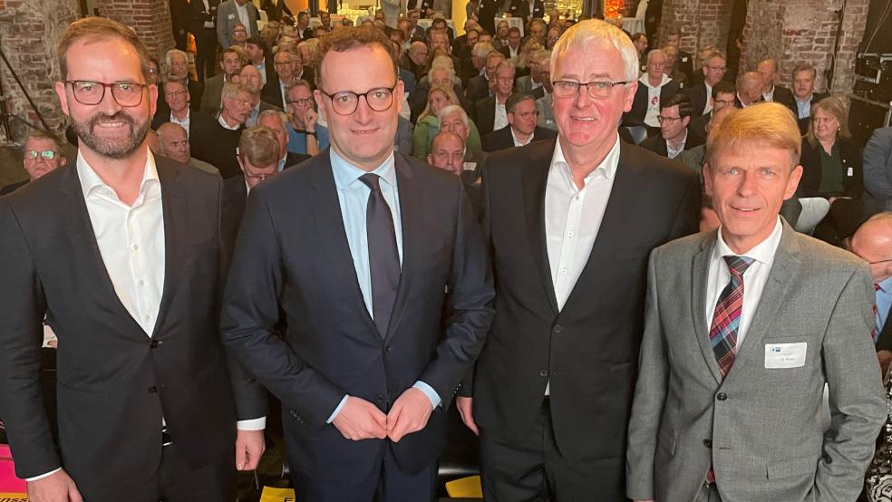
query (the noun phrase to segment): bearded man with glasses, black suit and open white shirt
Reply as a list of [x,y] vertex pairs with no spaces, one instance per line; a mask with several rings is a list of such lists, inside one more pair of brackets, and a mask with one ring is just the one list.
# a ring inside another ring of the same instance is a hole
[[[0,408],[17,474],[32,500],[232,499],[233,443],[236,466],[255,468],[266,403],[218,338],[220,182],[148,150],[157,90],[129,28],[79,20],[59,53],[78,159],[0,202]],[[102,80],[134,83],[79,83]],[[110,115],[130,127],[98,130]],[[61,456],[39,391],[44,319],[60,341]]]

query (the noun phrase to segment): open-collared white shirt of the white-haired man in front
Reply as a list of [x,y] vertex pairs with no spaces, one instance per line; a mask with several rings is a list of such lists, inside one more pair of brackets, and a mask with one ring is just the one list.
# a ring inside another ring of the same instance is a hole
[[[545,235],[558,310],[564,308],[588,263],[618,166],[619,136],[616,136],[613,148],[586,177],[585,186],[577,188],[560,140],[555,144],[545,188]],[[550,392],[551,381],[548,381],[545,395]]]

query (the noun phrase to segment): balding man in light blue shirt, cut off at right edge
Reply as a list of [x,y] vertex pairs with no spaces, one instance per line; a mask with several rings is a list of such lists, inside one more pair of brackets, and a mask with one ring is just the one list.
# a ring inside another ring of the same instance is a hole
[[850,248],[870,265],[874,283],[874,321],[871,334],[877,342],[877,361],[883,375],[892,365],[892,213],[874,215],[858,227]]

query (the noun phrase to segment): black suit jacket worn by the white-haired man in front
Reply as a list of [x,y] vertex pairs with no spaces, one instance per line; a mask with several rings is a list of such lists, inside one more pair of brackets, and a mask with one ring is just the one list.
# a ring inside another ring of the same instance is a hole
[[[644,331],[651,250],[697,230],[700,181],[678,162],[620,142],[619,167],[582,275],[558,311],[545,228],[555,141],[491,153],[481,225],[490,249],[496,319],[472,385],[477,424],[528,439],[550,380],[557,447],[598,459],[598,500],[625,500],[625,430]],[[634,231],[630,231],[634,229]],[[472,387],[472,389],[470,388]]]

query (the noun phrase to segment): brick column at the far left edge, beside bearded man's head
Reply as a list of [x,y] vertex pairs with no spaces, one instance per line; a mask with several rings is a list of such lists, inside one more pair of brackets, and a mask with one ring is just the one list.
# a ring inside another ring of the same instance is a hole
[[[56,132],[64,129],[64,116],[53,91],[53,83],[59,80],[55,46],[65,27],[77,19],[77,12],[76,0],[0,0],[0,49],[44,120]],[[40,126],[24,92],[2,62],[0,81],[10,97],[6,101],[7,111]],[[0,144],[9,145],[24,138],[27,126],[21,121],[12,121],[12,125],[12,138],[0,130]]]

